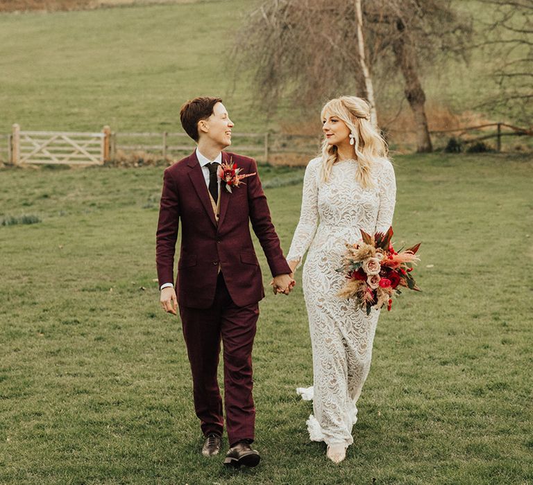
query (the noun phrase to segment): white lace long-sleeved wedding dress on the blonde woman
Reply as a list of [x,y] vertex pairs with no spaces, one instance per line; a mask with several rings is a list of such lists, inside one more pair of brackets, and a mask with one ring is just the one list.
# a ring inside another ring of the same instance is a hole
[[372,188],[356,181],[357,161],[337,162],[328,182],[321,182],[322,159],[310,161],[305,170],[300,222],[294,233],[288,261],[301,261],[303,292],[313,351],[313,386],[298,388],[313,400],[314,416],[307,420],[313,441],[328,445],[353,443],[357,399],[369,374],[372,344],[380,310],[369,316],[353,300],[337,292],[344,276],[341,266],[345,243],[367,233],[387,231],[392,224],[396,181],[391,163],[380,160],[371,171]]

